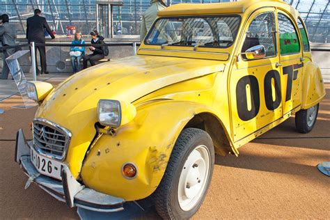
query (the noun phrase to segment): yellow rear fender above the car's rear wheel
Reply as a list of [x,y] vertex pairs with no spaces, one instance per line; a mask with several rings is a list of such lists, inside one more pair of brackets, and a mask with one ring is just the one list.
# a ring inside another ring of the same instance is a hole
[[305,64],[301,88],[301,109],[313,107],[325,96],[321,70],[312,62]]

